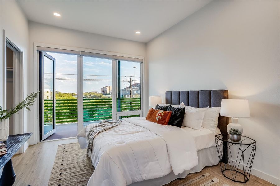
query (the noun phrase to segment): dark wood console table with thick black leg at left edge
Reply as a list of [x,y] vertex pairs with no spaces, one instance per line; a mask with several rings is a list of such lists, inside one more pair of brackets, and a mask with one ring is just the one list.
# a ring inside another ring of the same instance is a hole
[[4,144],[7,146],[7,154],[0,157],[0,169],[4,167],[0,185],[12,186],[16,180],[16,174],[13,169],[12,157],[21,148],[21,146],[30,138],[32,133],[9,135]]

